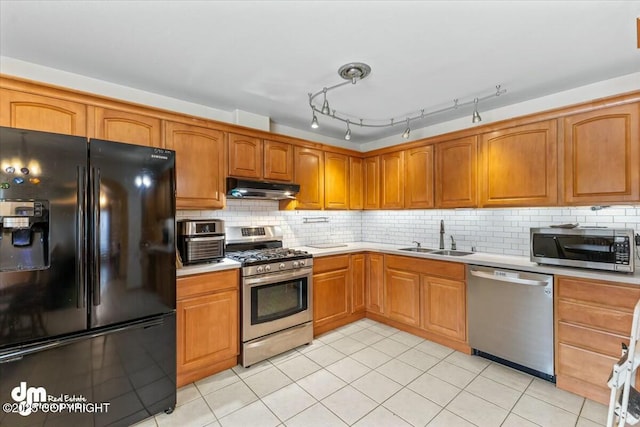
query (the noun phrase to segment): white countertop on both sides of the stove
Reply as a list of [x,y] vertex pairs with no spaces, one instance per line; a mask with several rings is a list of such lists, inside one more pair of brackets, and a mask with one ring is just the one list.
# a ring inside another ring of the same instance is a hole
[[[338,246],[339,245],[339,246]],[[350,242],[337,243],[332,248],[315,248],[311,246],[296,246],[292,249],[307,251],[314,257],[323,257],[330,255],[342,255],[355,252],[378,252],[391,255],[409,256],[415,258],[434,259],[440,261],[460,262],[463,264],[483,265],[487,267],[498,267],[512,270],[530,271],[534,273],[554,274],[559,276],[581,277],[585,279],[606,280],[611,282],[628,283],[640,286],[640,269],[636,269],[633,274],[629,273],[612,273],[600,270],[587,270],[574,267],[554,267],[548,265],[538,265],[531,262],[527,257],[518,257],[511,255],[499,255],[486,252],[475,252],[465,256],[447,256],[447,255],[431,255],[428,253],[416,253],[410,251],[402,251],[409,245],[390,245],[386,243],[372,242]],[[188,276],[191,274],[209,273],[214,271],[228,270],[232,268],[240,268],[240,263],[229,259],[213,264],[199,264],[196,266],[188,266],[177,270],[178,277]]]

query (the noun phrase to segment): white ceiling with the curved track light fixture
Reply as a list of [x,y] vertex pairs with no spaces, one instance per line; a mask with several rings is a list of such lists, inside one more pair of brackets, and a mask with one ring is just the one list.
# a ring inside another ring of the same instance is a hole
[[[638,72],[637,17],[640,1],[0,0],[0,55],[309,131],[307,94],[354,61],[372,73],[331,108],[385,120],[496,84],[507,93],[481,113]],[[344,123],[319,120],[342,138]],[[352,130],[368,142],[404,125]]]

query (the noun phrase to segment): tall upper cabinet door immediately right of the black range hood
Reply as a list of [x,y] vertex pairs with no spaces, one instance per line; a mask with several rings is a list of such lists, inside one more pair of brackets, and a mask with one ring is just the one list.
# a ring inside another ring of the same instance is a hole
[[295,147],[294,180],[300,185],[298,209],[322,209],[324,205],[324,155],[320,150]]

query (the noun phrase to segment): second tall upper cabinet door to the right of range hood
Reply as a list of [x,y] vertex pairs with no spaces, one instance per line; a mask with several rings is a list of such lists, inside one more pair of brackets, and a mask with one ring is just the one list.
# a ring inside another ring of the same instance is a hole
[[349,156],[324,153],[324,208],[349,208]]

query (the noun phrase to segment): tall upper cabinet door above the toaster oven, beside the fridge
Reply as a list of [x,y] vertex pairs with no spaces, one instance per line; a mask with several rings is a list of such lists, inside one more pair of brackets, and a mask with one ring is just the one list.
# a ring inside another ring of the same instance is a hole
[[176,152],[176,207],[224,207],[223,133],[167,122],[165,141]]

